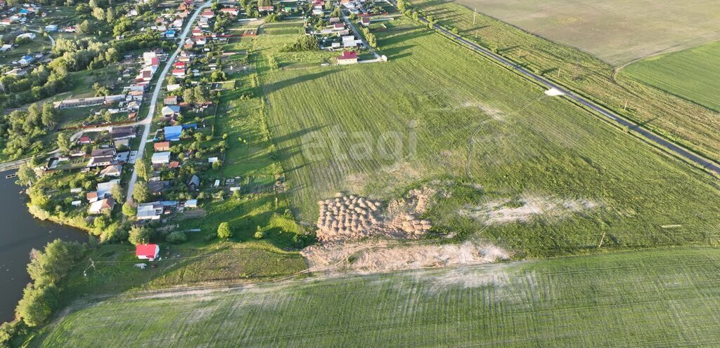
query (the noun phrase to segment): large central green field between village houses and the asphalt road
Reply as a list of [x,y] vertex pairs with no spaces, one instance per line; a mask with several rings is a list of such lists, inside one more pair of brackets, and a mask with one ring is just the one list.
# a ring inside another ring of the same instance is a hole
[[[377,32],[388,63],[261,72],[303,221],[312,224],[316,201],[336,191],[389,201],[429,185],[449,193],[427,214],[439,228],[527,255],[585,252],[603,234],[604,247],[720,240],[720,193],[708,175],[424,27],[394,23]],[[284,60],[262,37],[255,45]],[[400,139],[399,157],[385,154],[388,134]],[[366,145],[369,155],[358,150]],[[594,207],[488,226],[461,213],[530,196]]]

